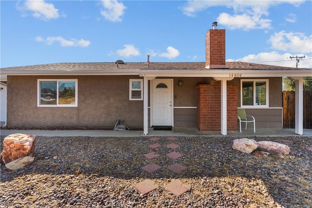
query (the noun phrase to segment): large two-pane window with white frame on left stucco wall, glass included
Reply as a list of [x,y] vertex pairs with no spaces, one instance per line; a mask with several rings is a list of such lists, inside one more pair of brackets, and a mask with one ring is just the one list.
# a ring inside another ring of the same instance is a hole
[[38,79],[38,106],[77,107],[77,79]]

